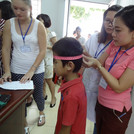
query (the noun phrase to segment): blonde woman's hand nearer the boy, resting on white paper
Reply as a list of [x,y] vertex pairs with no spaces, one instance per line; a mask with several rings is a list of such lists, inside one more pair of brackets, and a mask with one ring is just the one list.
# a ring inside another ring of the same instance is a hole
[[34,75],[34,71],[27,72],[20,80],[21,83],[26,83],[27,81],[30,81]]

